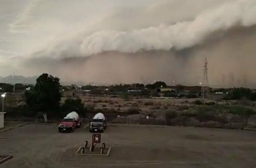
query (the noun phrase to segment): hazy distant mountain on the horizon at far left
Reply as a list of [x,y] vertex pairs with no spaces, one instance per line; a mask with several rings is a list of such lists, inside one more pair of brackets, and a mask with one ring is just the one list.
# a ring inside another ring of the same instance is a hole
[[0,83],[25,83],[25,84],[35,84],[36,78],[38,76],[17,76],[17,75],[9,75],[5,77],[0,76]]

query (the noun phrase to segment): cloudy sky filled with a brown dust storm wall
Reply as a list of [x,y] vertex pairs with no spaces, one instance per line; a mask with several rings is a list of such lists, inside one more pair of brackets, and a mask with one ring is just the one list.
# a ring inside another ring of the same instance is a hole
[[255,0],[0,1],[0,76],[256,87]]

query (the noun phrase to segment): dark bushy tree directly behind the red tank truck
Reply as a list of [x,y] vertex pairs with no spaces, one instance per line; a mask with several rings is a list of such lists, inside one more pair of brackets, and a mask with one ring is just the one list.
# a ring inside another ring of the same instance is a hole
[[61,106],[61,110],[63,110],[65,113],[70,113],[72,111],[77,112],[79,115],[84,116],[85,107],[82,102],[82,99],[72,99],[67,98],[64,102],[64,104]]

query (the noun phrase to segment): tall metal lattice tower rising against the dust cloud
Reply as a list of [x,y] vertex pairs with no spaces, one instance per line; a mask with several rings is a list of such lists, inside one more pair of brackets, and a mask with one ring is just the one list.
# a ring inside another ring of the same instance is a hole
[[208,81],[208,66],[207,66],[207,58],[205,57],[204,61],[204,77],[202,82],[202,88],[201,88],[201,97],[204,98],[210,98],[209,96],[209,81]]

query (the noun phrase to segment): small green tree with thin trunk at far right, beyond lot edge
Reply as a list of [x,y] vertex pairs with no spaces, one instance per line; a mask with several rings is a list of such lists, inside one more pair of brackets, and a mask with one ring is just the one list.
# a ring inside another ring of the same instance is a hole
[[237,114],[238,116],[240,116],[244,120],[244,123],[243,123],[243,128],[244,128],[244,127],[247,127],[248,119],[250,118],[251,115],[255,114],[255,111],[253,110],[252,107],[234,105],[230,108],[229,113]]

